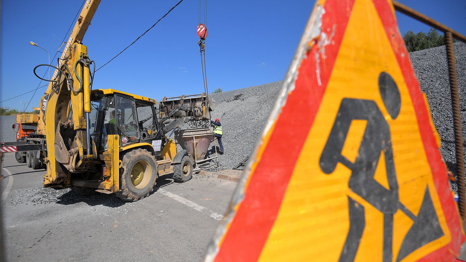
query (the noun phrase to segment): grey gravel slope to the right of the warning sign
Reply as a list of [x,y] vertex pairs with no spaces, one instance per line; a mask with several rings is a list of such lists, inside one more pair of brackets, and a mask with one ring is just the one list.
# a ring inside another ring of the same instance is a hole
[[[454,44],[456,72],[458,75],[459,103],[463,141],[466,139],[466,45]],[[432,120],[441,139],[440,152],[453,174],[456,175],[456,154],[453,134],[450,82],[445,46],[434,47],[409,54],[421,90],[426,94]],[[466,149],[466,143],[463,144]],[[466,150],[465,150],[466,155]],[[452,185],[456,191],[456,185]]]

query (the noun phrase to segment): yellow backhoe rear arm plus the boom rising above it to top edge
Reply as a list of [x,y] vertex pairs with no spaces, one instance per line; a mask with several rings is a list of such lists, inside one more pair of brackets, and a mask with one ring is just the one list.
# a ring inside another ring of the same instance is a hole
[[100,0],[85,2],[41,98],[41,119],[45,127],[38,131],[47,141],[45,186],[69,186],[70,172],[86,171],[90,161],[97,157],[96,145],[89,134],[93,61],[82,39],[99,4]]

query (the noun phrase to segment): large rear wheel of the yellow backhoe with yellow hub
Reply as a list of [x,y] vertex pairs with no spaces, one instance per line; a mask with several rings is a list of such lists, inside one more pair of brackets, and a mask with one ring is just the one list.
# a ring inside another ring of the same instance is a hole
[[157,179],[157,162],[151,152],[136,149],[123,156],[121,190],[115,193],[124,201],[138,201],[152,192]]

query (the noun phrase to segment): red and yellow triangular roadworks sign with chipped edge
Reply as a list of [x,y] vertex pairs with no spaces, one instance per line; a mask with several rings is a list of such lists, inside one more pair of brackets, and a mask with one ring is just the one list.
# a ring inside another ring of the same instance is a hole
[[318,1],[206,261],[452,261],[465,236],[389,0]]

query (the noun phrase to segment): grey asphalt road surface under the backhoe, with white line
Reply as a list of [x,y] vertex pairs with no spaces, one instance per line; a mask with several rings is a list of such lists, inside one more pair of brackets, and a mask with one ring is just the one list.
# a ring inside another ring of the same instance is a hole
[[161,177],[149,197],[76,197],[42,188],[45,170],[5,154],[0,180],[7,261],[200,261],[236,182]]

